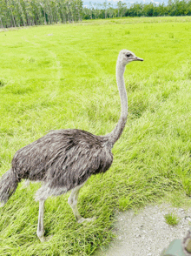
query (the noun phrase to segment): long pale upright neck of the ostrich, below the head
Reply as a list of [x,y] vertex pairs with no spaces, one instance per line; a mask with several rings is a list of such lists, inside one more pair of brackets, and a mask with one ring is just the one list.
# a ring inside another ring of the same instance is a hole
[[123,77],[124,71],[125,65],[122,64],[118,59],[116,63],[116,83],[121,98],[122,111],[121,117],[119,118],[119,121],[115,126],[114,130],[108,134],[109,142],[111,143],[111,145],[114,145],[117,139],[119,139],[122,135],[122,131],[124,130],[128,118],[128,97]]

